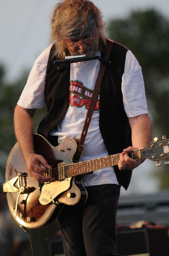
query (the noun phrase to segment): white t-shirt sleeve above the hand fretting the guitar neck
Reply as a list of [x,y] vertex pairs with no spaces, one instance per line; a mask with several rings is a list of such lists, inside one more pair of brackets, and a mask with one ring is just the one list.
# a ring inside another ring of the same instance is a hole
[[124,109],[128,117],[148,113],[141,66],[130,50],[126,55],[121,90]]

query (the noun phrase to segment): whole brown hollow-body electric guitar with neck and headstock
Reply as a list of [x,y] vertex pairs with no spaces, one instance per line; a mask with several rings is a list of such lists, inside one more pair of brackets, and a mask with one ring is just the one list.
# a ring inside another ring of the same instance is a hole
[[[65,204],[84,204],[87,191],[82,185],[82,175],[118,164],[120,154],[73,163],[76,149],[77,144],[73,139],[67,139],[54,147],[41,135],[34,134],[35,152],[41,154],[51,166],[42,175],[54,179],[50,183],[39,183],[29,175],[19,144],[14,145],[6,164],[3,192],[7,195],[11,214],[21,226],[48,226]],[[148,158],[157,161],[157,166],[161,165],[159,160],[165,160],[164,163],[168,164],[169,140],[165,136],[160,142],[155,138],[153,143],[129,155],[135,160]]]

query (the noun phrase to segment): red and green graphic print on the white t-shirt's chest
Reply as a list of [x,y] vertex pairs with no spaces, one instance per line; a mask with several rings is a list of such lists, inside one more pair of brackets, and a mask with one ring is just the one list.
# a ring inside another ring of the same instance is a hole
[[[90,100],[93,95],[93,90],[85,87],[81,81],[70,81],[69,87],[69,105],[71,107],[85,108],[88,110]],[[97,98],[94,111],[99,110],[100,102],[99,97]]]

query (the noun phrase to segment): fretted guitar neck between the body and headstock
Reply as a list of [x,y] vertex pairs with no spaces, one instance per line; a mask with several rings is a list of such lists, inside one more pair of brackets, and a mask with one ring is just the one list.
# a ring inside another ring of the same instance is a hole
[[[129,156],[132,159],[140,158],[140,150],[130,152]],[[114,154],[107,157],[100,157],[92,160],[87,160],[79,163],[73,163],[65,166],[65,177],[73,177],[88,172],[93,172],[99,169],[118,165],[120,154]]]

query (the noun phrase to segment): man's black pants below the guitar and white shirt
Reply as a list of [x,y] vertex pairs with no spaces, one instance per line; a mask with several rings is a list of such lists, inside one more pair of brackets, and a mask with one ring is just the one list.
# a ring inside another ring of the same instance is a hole
[[86,189],[86,203],[65,205],[58,217],[65,256],[115,255],[115,218],[120,186],[105,184]]

